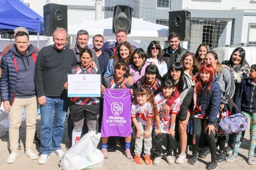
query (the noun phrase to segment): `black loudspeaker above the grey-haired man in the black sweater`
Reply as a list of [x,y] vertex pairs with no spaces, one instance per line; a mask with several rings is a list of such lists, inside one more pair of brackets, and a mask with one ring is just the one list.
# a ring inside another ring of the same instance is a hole
[[68,30],[68,6],[52,3],[44,5],[44,35],[52,36],[57,27]]

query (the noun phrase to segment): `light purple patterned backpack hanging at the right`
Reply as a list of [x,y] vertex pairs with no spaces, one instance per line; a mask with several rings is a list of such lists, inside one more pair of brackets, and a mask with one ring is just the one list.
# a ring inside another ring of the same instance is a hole
[[241,113],[236,113],[229,117],[224,117],[219,123],[219,126],[225,135],[242,132],[248,127],[247,118]]

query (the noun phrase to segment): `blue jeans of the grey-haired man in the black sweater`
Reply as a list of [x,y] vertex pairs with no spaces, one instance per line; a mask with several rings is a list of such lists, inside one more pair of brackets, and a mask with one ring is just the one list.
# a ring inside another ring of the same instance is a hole
[[[53,122],[53,111],[54,122]],[[46,104],[40,105],[41,112],[41,148],[42,154],[50,155],[61,149],[64,123],[68,110],[68,98],[46,96]]]

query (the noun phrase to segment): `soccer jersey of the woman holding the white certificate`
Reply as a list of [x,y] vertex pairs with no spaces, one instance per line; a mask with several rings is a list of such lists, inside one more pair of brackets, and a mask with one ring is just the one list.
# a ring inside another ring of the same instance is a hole
[[[71,74],[100,74],[97,68],[83,68],[79,64],[71,68]],[[99,102],[98,97],[70,97],[70,101],[78,105],[92,105]]]

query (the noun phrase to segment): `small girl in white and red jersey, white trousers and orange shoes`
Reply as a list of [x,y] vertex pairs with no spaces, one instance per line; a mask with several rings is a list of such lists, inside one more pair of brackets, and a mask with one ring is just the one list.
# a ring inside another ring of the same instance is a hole
[[[138,104],[131,106],[131,117],[136,128],[134,161],[142,164],[140,154],[144,139],[144,159],[147,165],[151,164],[150,149],[152,147],[151,132],[154,125],[154,116],[157,113],[157,105],[154,101],[152,90],[147,86],[136,89]],[[143,137],[142,137],[143,136]]]

